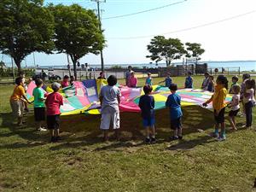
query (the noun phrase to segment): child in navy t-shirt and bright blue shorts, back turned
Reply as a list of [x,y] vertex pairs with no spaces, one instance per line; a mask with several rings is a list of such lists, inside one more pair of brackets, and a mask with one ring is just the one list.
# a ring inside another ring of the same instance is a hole
[[[140,97],[139,107],[142,110],[143,126],[145,127],[145,133],[146,133],[145,143],[155,143],[154,96],[149,96],[149,94],[152,91],[152,87],[150,85],[145,85],[143,87],[143,91],[145,95]],[[151,131],[151,137],[150,137],[150,131]]]

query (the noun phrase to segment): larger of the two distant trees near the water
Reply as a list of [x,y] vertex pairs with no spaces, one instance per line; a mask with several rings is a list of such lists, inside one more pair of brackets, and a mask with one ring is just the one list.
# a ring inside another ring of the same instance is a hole
[[147,58],[152,61],[166,61],[166,67],[170,66],[173,60],[180,59],[186,53],[183,44],[178,38],[165,38],[155,36],[147,46],[149,53]]

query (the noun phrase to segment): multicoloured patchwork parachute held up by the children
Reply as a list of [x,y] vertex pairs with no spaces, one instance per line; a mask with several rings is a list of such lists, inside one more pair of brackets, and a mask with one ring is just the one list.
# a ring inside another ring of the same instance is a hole
[[[76,81],[73,86],[68,86],[60,90],[64,98],[64,105],[61,106],[61,115],[89,113],[101,113],[101,106],[98,99],[99,91],[102,86],[107,84],[103,79],[84,80],[82,82]],[[32,100],[32,90],[36,84],[32,81],[28,85],[27,97]],[[143,95],[142,88],[129,88],[126,86],[119,86],[121,91],[121,112],[140,112],[138,107],[139,98]],[[52,92],[50,87],[46,88],[45,92]],[[202,90],[183,89],[177,90],[177,94],[182,98],[182,106],[199,105],[206,102],[212,96],[211,92]],[[167,87],[154,85],[152,96],[154,96],[155,109],[166,108],[166,99],[170,95],[170,90]],[[231,96],[227,96],[226,102],[230,102]],[[211,105],[208,108],[212,108]]]

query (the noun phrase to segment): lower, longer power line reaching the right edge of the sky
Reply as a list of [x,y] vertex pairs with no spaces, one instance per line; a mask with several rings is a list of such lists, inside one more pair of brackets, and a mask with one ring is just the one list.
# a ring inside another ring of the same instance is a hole
[[[236,18],[239,18],[239,17],[242,17],[242,16],[254,14],[255,12],[256,12],[256,10],[252,10],[250,12],[247,12],[247,13],[244,13],[244,14],[241,14],[241,15],[235,15],[235,16],[232,16],[232,17],[228,17],[228,18],[225,18],[223,20],[215,20],[215,21],[212,21],[212,22],[209,22],[209,23],[201,24],[199,26],[191,26],[189,28],[183,28],[183,29],[179,29],[179,30],[176,30],[176,31],[172,31],[172,32],[164,32],[164,33],[160,33],[160,35],[167,35],[167,34],[177,33],[177,32],[186,32],[186,31],[201,28],[201,27],[204,27],[204,26],[212,26],[212,25],[215,25],[215,24],[227,21],[227,20],[235,20]],[[151,37],[154,37],[154,36],[155,36],[155,34],[154,35],[147,35],[147,36],[126,37],[126,38],[125,37],[120,37],[120,38],[108,38],[108,39],[136,39],[136,38],[151,38]]]

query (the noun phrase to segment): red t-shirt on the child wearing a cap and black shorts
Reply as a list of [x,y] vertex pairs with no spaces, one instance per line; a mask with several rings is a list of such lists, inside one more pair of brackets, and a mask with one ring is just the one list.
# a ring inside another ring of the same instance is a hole
[[47,96],[46,101],[47,115],[61,114],[60,107],[63,105],[63,97],[58,92],[53,92]]

